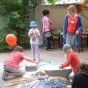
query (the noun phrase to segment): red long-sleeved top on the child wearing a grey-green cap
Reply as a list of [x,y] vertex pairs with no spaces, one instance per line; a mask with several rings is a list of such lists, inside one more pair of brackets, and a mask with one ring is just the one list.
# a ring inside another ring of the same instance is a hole
[[67,57],[67,60],[62,64],[62,67],[67,67],[71,65],[73,72],[77,73],[77,67],[79,64],[80,60],[78,58],[77,53],[75,51],[72,51]]

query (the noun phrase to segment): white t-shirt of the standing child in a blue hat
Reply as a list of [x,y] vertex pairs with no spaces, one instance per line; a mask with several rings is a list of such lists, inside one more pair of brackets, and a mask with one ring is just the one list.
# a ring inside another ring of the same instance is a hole
[[30,36],[32,33],[33,36],[35,37],[34,40],[32,39],[32,37],[30,37],[30,44],[38,44],[38,36],[36,35],[36,32],[37,32],[38,36],[40,36],[40,32],[37,28],[29,30],[28,36]]

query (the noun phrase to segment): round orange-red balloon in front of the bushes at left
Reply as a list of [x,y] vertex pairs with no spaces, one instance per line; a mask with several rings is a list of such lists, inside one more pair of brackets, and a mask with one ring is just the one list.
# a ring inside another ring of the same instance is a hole
[[6,42],[10,45],[10,46],[14,46],[16,45],[17,42],[17,37],[14,34],[8,34],[6,36]]

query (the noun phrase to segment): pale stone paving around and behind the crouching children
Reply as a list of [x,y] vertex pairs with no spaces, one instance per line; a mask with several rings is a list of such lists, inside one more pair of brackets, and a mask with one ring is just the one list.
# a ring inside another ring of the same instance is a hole
[[[27,56],[32,57],[30,49],[24,50],[24,53]],[[9,56],[9,54],[10,52],[0,53],[0,88],[17,88],[15,86],[5,87],[5,85],[10,83],[10,81],[12,80],[21,79],[21,78],[14,78],[8,81],[3,81],[1,78],[3,72],[3,61],[6,59],[6,57]],[[78,56],[81,62],[88,63],[88,47],[84,48],[81,53],[78,53]],[[58,62],[58,64],[64,62],[64,53],[60,48],[53,49],[52,51],[46,51],[43,47],[40,47],[40,57],[41,57],[41,61],[55,61]]]

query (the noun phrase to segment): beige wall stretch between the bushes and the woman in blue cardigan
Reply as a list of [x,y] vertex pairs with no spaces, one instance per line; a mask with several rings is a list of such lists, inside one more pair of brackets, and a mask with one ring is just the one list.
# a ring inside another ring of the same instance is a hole
[[61,30],[64,21],[64,16],[66,14],[66,8],[59,6],[37,6],[35,9],[35,18],[39,26],[40,26],[39,21],[40,18],[43,17],[42,11],[44,9],[50,11],[50,19],[53,22],[52,28],[55,28],[56,30]]

